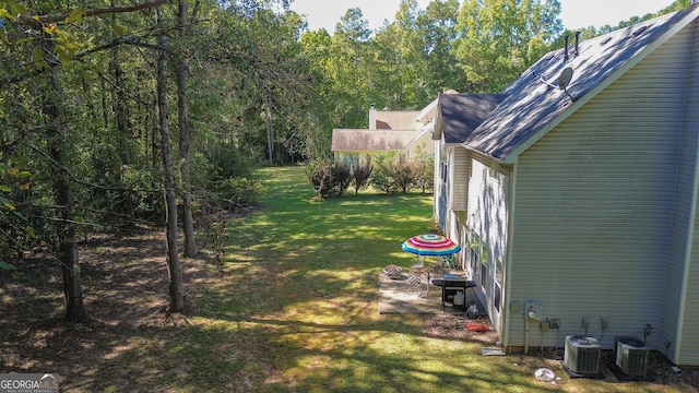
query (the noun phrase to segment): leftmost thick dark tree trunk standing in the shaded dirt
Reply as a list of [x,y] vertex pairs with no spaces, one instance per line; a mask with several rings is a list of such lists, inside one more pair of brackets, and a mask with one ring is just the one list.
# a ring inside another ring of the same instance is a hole
[[[52,50],[52,48],[50,48]],[[80,285],[80,261],[78,258],[78,245],[75,242],[74,205],[71,191],[71,179],[66,168],[69,146],[67,142],[66,126],[60,116],[59,105],[60,85],[58,83],[58,69],[48,75],[49,92],[46,92],[44,110],[48,116],[47,145],[52,163],[50,165],[54,179],[54,195],[56,204],[60,206],[60,216],[57,224],[58,259],[61,263],[63,276],[63,296],[66,298],[66,320],[71,322],[86,321],[87,313],[83,303],[83,293]]]

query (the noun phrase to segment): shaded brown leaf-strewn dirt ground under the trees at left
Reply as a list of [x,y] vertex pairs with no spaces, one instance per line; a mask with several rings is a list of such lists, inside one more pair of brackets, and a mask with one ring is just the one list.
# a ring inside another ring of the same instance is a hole
[[[99,391],[102,377],[129,370],[120,364],[125,354],[176,335],[197,311],[188,301],[185,314],[167,312],[161,231],[92,236],[80,243],[80,261],[85,323],[64,322],[60,265],[48,253],[37,250],[17,263],[20,278],[0,272],[0,372],[57,372],[63,390]],[[216,276],[200,259],[182,260],[182,270],[187,299]],[[152,371],[162,370],[153,365]],[[123,391],[140,391],[138,378],[122,382]]]

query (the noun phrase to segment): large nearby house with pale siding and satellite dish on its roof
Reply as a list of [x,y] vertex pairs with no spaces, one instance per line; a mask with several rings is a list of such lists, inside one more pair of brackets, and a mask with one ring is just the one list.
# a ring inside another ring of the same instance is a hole
[[440,100],[435,198],[502,345],[629,335],[699,366],[699,4],[576,40],[495,97],[477,127],[459,115],[479,105]]

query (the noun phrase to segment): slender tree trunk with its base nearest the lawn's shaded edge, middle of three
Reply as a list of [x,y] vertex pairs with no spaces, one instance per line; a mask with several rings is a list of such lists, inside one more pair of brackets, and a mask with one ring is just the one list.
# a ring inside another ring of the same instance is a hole
[[[163,28],[163,9],[157,8],[157,24]],[[177,194],[175,182],[175,165],[173,164],[173,143],[167,112],[167,43],[165,33],[161,31],[157,36],[159,49],[157,51],[157,107],[158,126],[161,129],[161,147],[163,150],[163,171],[165,183],[166,204],[166,250],[167,272],[169,274],[170,312],[185,310],[185,290],[182,284],[182,270],[177,253]]]

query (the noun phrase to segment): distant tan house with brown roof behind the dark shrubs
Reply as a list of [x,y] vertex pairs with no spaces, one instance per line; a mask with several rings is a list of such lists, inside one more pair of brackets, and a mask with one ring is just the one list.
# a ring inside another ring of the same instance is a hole
[[369,129],[332,130],[331,151],[335,163],[350,167],[365,164],[367,157],[394,153],[400,160],[414,160],[434,154],[434,142],[426,129],[435,116],[436,102],[424,110],[369,110]]

